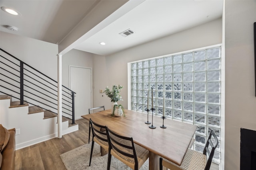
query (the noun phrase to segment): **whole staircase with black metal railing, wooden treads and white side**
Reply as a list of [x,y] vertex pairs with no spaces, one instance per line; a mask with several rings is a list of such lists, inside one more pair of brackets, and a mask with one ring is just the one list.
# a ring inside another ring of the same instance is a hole
[[[16,129],[16,149],[58,136],[58,82],[0,49],[0,124]],[[78,130],[75,92],[62,85],[62,135]]]

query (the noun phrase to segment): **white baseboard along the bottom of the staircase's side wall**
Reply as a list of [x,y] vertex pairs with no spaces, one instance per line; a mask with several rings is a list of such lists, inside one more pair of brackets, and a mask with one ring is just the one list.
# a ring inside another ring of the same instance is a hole
[[[74,126],[69,127],[68,129],[62,131],[62,135],[65,135],[65,134],[68,134],[68,133],[71,133],[71,132],[74,132],[74,131],[77,131],[77,130],[78,130],[78,125],[74,125]],[[20,143],[20,144],[16,145],[16,150],[19,150],[19,149],[22,149],[22,148],[25,148],[25,147],[29,147],[31,145],[35,145],[35,144],[40,143],[40,142],[47,141],[47,140],[50,140],[50,139],[55,138],[55,137],[58,137],[58,133],[54,133],[54,134],[51,134],[51,135],[47,135],[47,136],[44,136],[44,137],[33,139],[31,141]]]

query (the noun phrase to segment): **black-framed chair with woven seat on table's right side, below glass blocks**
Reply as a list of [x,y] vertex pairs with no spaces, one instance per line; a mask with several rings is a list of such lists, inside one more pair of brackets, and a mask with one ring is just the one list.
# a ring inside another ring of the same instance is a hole
[[[213,139],[212,139],[212,136],[213,136]],[[209,148],[209,144],[211,146],[210,148]],[[160,158],[160,170],[163,169],[163,166],[166,168],[169,168],[170,170],[209,170],[212,163],[212,158],[214,156],[214,151],[217,145],[218,145],[218,139],[215,133],[211,131],[203,152],[198,152],[196,150],[188,149],[180,166],[177,164],[174,164],[169,160]],[[208,155],[208,160],[207,160],[207,155]]]

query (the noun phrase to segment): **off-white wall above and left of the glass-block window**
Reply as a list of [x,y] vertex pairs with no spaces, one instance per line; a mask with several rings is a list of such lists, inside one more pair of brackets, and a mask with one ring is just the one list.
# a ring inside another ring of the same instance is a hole
[[[128,108],[128,77],[127,77],[127,63],[178,53],[191,49],[206,47],[210,45],[220,44],[222,42],[222,20],[214,20],[209,23],[181,31],[174,35],[170,35],[143,45],[138,45],[130,49],[120,51],[118,53],[108,55],[106,57],[98,57],[96,64],[94,62],[94,70],[98,70],[94,74],[94,85],[102,84],[99,88],[112,87],[113,84],[121,84],[124,88],[121,90],[120,95],[124,101],[118,102],[124,108]],[[106,62],[104,61],[106,60]],[[96,61],[96,59],[94,60]],[[102,64],[100,64],[102,63]],[[106,64],[106,65],[105,65]],[[101,78],[108,78],[104,81]],[[96,89],[94,90],[95,102],[104,103],[106,109],[110,109],[110,101],[104,94],[103,98],[99,98]],[[104,101],[104,102],[103,102]]]

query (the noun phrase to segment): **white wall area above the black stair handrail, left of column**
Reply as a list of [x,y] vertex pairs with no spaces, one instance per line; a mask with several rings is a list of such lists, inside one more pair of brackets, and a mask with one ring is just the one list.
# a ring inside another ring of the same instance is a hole
[[57,81],[58,45],[0,31],[0,47]]

